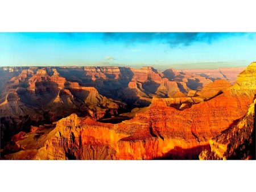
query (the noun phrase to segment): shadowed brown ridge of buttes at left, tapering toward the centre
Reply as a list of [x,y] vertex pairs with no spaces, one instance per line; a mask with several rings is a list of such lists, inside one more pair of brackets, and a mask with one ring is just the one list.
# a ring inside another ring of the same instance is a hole
[[102,96],[94,87],[67,81],[56,69],[24,69],[3,90],[1,148],[11,135],[28,131],[30,124],[51,123],[72,113],[101,119],[105,115],[117,115],[126,107],[122,102]]

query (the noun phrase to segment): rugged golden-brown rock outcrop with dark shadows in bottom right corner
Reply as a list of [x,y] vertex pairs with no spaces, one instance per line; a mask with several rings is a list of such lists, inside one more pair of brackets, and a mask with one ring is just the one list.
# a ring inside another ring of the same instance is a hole
[[255,159],[255,104],[247,114],[220,135],[209,140],[210,150],[200,153],[200,160]]

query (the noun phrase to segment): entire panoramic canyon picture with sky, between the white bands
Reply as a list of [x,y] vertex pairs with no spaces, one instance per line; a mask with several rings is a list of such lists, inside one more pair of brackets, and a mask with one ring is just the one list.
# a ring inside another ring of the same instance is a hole
[[1,160],[254,160],[255,32],[0,32]]

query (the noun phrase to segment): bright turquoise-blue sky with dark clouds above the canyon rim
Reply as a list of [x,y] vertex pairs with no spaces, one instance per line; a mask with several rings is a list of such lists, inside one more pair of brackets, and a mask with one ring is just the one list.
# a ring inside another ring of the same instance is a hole
[[0,33],[0,66],[218,68],[256,60],[256,33]]

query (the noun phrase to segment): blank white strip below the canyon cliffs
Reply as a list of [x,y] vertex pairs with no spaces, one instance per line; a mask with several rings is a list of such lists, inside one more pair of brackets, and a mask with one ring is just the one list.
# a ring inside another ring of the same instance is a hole
[[1,161],[0,181],[1,191],[253,191],[255,171],[255,161]]

